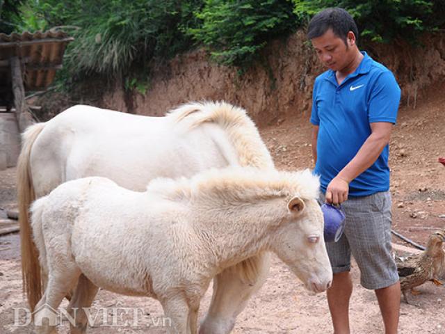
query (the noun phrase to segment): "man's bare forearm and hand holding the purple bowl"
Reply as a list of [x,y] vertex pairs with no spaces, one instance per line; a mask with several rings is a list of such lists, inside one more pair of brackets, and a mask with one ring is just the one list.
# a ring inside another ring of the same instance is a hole
[[339,204],[348,199],[349,183],[374,164],[389,143],[392,126],[389,122],[371,123],[371,135],[349,164],[327,185],[327,202]]

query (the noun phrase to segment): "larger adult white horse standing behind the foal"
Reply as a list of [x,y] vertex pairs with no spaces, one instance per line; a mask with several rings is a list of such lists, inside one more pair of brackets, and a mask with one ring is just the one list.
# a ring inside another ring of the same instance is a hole
[[[24,290],[31,309],[40,300],[38,252],[28,210],[35,198],[68,180],[103,176],[143,191],[155,177],[190,177],[209,168],[273,168],[257,127],[227,103],[191,103],[153,118],[73,106],[26,130],[17,166]],[[259,253],[220,273],[200,333],[226,334],[270,267]]]

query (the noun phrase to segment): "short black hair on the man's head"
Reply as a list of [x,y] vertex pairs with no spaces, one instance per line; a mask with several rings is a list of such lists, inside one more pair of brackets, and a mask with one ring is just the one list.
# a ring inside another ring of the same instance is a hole
[[307,38],[320,37],[327,30],[332,29],[335,35],[341,38],[346,44],[348,32],[352,31],[355,39],[358,39],[359,29],[350,14],[343,8],[327,8],[312,17],[307,26]]

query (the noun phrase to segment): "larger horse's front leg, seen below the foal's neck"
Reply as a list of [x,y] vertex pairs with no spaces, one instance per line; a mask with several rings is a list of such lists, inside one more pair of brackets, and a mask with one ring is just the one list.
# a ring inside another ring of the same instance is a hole
[[200,334],[227,334],[248,300],[264,284],[270,267],[270,254],[262,253],[236,264],[213,279],[213,296]]

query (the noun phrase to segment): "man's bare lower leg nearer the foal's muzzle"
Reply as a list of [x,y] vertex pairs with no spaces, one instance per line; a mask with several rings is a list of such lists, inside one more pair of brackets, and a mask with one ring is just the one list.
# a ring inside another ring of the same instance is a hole
[[349,299],[353,282],[349,271],[334,273],[332,287],[327,289],[327,303],[331,312],[334,334],[349,334]]

